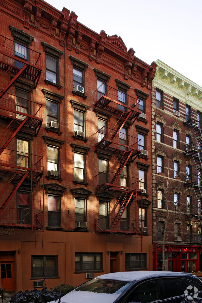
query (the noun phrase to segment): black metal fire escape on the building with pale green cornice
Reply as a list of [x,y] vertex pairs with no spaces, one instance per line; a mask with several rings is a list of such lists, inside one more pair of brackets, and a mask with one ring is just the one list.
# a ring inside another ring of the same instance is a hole
[[185,115],[184,125],[187,125],[189,128],[192,127],[195,134],[196,142],[190,142],[185,145],[185,155],[191,156],[194,160],[195,167],[197,169],[197,174],[190,174],[186,176],[186,186],[191,186],[194,190],[198,205],[192,206],[191,214],[188,216],[192,218],[197,226],[199,236],[195,236],[192,241],[201,243],[202,239],[202,123],[201,123],[201,114],[190,110]]

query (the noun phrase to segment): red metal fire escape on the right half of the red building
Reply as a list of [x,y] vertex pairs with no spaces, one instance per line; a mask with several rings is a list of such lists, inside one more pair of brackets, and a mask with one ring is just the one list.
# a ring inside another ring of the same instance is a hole
[[[100,93],[98,88],[94,93],[96,108],[104,109],[107,112],[117,116],[116,123],[111,128],[102,127],[94,134],[94,139],[97,142],[94,150],[108,150],[117,156],[117,169],[115,172],[103,171],[97,177],[96,193],[108,192],[117,198],[117,203],[114,207],[113,218],[100,218],[95,221],[95,232],[114,232],[136,235],[138,238],[138,251],[142,250],[143,228],[142,218],[139,218],[139,206],[143,208],[143,189],[139,188],[139,179],[124,175],[123,169],[126,163],[133,162],[140,154],[138,149],[138,139],[126,135],[122,132],[122,127],[126,121],[130,121],[132,125],[139,112],[135,109],[136,99],[126,95],[123,103],[120,98],[120,92],[110,86],[105,85],[105,94]],[[103,91],[103,90],[101,90]],[[138,201],[138,195],[141,194],[141,203]],[[135,200],[135,220],[123,219],[122,215],[130,202]],[[141,204],[141,205],[140,205]]]

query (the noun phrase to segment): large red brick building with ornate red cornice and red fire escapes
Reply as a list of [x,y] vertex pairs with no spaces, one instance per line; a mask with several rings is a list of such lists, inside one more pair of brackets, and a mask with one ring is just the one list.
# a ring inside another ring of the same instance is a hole
[[0,17],[2,287],[151,270],[155,62],[44,1]]

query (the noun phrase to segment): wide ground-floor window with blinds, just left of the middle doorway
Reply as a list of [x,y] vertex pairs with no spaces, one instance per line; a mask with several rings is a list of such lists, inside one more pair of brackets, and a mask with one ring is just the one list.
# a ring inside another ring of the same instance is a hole
[[75,270],[101,270],[101,253],[75,253]]

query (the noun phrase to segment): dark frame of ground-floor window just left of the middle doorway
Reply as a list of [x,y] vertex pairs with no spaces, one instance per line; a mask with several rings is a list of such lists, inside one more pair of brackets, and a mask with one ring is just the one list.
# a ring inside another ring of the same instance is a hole
[[[89,256],[93,256],[94,257],[94,261],[93,261],[93,269],[83,269],[83,263],[85,261],[83,261],[83,256],[84,255],[89,255]],[[100,268],[97,268],[97,255],[100,255]],[[76,261],[76,256],[79,257],[79,261]],[[76,269],[76,262],[78,262],[77,264],[79,264],[79,269]],[[87,253],[83,253],[83,252],[75,252],[75,273],[88,273],[88,272],[102,272],[103,271],[103,253],[92,253],[92,252],[87,252]]]

